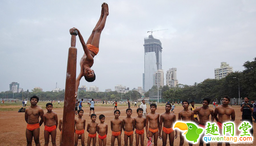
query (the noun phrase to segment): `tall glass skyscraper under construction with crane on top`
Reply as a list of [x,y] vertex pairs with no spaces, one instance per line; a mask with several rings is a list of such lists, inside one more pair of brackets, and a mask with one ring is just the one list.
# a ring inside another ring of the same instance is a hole
[[153,35],[144,38],[143,89],[148,91],[154,85],[154,72],[162,69],[162,43]]

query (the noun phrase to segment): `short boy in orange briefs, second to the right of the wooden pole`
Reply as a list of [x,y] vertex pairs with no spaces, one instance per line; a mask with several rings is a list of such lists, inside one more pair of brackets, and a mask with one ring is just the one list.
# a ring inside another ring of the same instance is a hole
[[93,138],[93,146],[96,145],[96,132],[97,132],[97,126],[98,123],[96,121],[97,116],[95,114],[91,114],[91,122],[87,125],[87,132],[88,134],[88,140],[87,140],[87,146],[91,145],[91,138]]

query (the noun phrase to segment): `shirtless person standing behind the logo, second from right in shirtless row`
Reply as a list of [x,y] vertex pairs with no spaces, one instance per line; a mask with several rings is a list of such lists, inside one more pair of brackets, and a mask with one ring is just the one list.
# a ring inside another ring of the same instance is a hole
[[[195,122],[197,122],[199,127],[205,128],[206,122],[210,121],[210,115],[211,115],[211,122],[214,121],[214,113],[211,108],[209,108],[211,100],[209,98],[204,98],[203,99],[203,106],[196,108],[193,112],[194,114],[198,114],[199,121],[195,118]],[[201,135],[199,146],[203,146],[203,136],[204,134]],[[210,143],[206,144],[207,146],[210,146]]]

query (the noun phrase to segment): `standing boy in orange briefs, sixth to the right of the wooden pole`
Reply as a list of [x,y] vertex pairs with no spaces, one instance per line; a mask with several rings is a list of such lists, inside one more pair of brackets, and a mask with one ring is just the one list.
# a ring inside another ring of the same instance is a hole
[[146,125],[146,118],[142,117],[143,109],[137,109],[138,117],[134,118],[135,128],[136,128],[136,146],[144,146],[144,127]]

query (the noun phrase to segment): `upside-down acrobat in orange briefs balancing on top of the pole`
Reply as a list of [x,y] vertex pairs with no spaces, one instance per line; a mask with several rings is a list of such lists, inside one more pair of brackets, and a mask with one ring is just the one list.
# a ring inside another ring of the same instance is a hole
[[87,82],[93,82],[96,78],[94,71],[91,70],[91,67],[93,66],[93,63],[94,63],[94,56],[96,56],[99,52],[100,34],[105,26],[106,17],[108,15],[109,15],[109,6],[108,4],[103,3],[101,5],[100,19],[96,24],[95,28],[93,29],[93,32],[91,33],[86,44],[84,42],[83,36],[81,35],[80,31],[77,28],[70,29],[71,34],[74,33],[75,30],[77,30],[80,42],[84,49],[84,55],[80,60],[81,71],[76,78],[76,88],[75,88],[76,95],[75,96],[77,96],[77,90],[80,84],[80,80],[83,76]]

